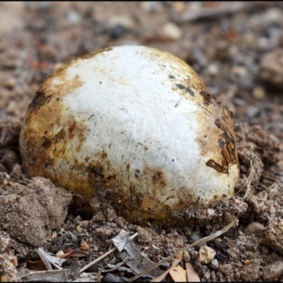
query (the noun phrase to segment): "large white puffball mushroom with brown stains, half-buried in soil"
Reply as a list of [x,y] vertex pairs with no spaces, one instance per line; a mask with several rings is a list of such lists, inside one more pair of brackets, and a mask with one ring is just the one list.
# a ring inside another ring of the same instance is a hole
[[232,196],[239,178],[231,112],[193,69],[143,46],[98,50],[37,91],[20,136],[23,168],[129,221],[173,223]]

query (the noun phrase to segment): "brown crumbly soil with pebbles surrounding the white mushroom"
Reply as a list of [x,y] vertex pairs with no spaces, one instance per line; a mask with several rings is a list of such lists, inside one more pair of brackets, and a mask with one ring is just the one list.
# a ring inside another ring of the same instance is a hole
[[[283,4],[236,3],[0,3],[0,281],[20,280],[35,268],[29,262],[40,259],[38,247],[55,255],[86,241],[83,264],[107,252],[124,229],[129,236],[138,232],[134,245],[158,262],[231,219],[238,226],[207,243],[214,258],[204,263],[203,247],[191,248],[180,265],[190,262],[202,282],[282,281]],[[237,195],[211,207],[213,216],[199,212],[193,225],[129,224],[108,203],[87,202],[22,171],[21,121],[47,76],[93,50],[131,44],[181,57],[233,112],[241,165]],[[92,272],[118,257],[110,254]],[[112,275],[133,276],[121,270]]]

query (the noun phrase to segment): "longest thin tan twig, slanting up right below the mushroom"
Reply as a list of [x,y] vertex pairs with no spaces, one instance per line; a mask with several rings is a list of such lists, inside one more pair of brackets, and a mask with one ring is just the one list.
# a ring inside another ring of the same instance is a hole
[[219,236],[221,236],[223,233],[225,233],[226,231],[229,231],[229,229],[235,225],[235,222],[231,222],[229,225],[225,226],[223,229],[213,233],[212,235],[209,235],[207,237],[201,238],[200,240],[196,241],[195,243],[191,243],[188,246],[185,246],[184,248],[181,248],[180,250],[178,250],[177,252],[173,253],[173,255],[169,255],[167,258],[164,258],[161,261],[156,262],[154,265],[151,265],[151,267],[146,268],[146,270],[144,270],[143,272],[139,273],[138,275],[130,278],[128,280],[128,282],[133,282],[134,280],[138,279],[141,276],[146,275],[146,273],[151,272],[151,270],[156,269],[156,267],[158,267],[159,265],[161,265],[163,262],[166,262],[168,260],[171,260],[172,258],[175,258],[176,255],[178,255],[180,252],[184,252],[185,250],[187,250],[188,248],[192,248],[198,245],[201,245],[202,243],[206,243],[207,241],[211,241],[214,238],[217,238]]

